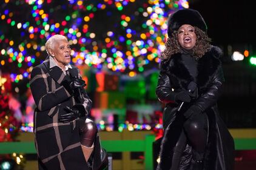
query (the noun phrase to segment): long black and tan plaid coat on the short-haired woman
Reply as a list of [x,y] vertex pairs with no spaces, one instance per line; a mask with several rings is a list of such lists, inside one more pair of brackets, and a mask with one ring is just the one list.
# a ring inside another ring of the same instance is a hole
[[[50,59],[47,57],[31,73],[30,88],[36,103],[34,134],[39,169],[88,169],[81,148],[77,119],[70,123],[61,123],[58,120],[61,114],[66,114],[65,106],[72,107],[76,103],[74,97],[61,85],[70,75],[81,77],[78,68],[71,66],[65,75],[57,66],[50,68]],[[86,91],[83,105],[89,113],[92,101]],[[94,144],[93,169],[98,169],[101,164],[98,133]]]

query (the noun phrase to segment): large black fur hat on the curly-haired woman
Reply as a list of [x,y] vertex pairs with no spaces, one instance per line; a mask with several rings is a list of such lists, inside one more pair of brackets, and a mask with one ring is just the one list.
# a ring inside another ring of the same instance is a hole
[[207,31],[207,25],[204,22],[203,17],[197,10],[192,10],[189,8],[184,8],[178,11],[175,11],[172,15],[170,15],[167,25],[168,25],[168,36],[172,36],[173,31],[177,31],[181,25],[189,24],[193,27],[198,27],[202,31]]

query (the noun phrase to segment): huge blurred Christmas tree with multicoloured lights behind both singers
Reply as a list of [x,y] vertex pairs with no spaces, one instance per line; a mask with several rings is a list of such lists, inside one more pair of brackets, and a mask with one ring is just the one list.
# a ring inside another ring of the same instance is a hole
[[21,0],[0,2],[0,69],[13,82],[27,79],[45,59],[45,42],[64,34],[72,62],[129,76],[158,67],[166,19],[187,1]]

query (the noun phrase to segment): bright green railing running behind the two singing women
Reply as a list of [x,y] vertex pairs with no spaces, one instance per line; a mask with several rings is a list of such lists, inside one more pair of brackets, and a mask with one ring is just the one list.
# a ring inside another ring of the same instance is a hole
[[[236,150],[252,150],[256,149],[256,138],[254,137],[255,130],[247,135],[247,138],[242,134],[235,135],[234,138]],[[155,136],[146,135],[144,140],[101,140],[101,145],[108,152],[144,152],[144,168],[153,169],[153,147]],[[34,142],[0,142],[0,154],[35,154]]]

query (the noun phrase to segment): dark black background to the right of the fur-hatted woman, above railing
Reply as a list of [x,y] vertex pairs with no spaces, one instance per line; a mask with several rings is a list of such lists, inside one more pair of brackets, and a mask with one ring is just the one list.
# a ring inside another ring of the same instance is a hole
[[[220,115],[229,128],[256,127],[256,67],[249,57],[256,56],[256,8],[254,1],[196,0],[189,8],[198,10],[206,21],[212,44],[223,50],[226,82],[218,100]],[[232,61],[234,51],[249,50],[243,61]]]

